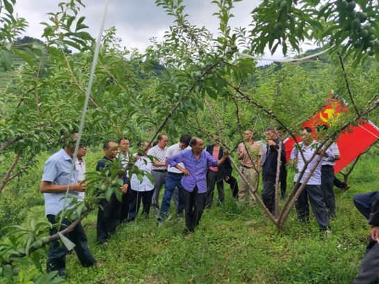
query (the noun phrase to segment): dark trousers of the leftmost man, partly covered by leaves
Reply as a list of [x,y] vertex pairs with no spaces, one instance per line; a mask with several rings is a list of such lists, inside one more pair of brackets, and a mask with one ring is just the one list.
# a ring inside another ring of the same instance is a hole
[[[47,215],[47,220],[51,224],[56,224],[55,215]],[[70,226],[71,222],[67,219],[63,219],[63,224]],[[61,227],[60,231],[63,231],[66,227]],[[52,228],[50,235],[58,233],[58,228]],[[87,244],[87,235],[84,232],[81,223],[77,224],[73,231],[65,235],[71,242],[75,244],[74,250],[79,258],[79,261],[83,267],[90,267],[96,264],[95,258],[93,258],[90,249]],[[47,251],[48,259],[46,263],[47,272],[58,270],[59,276],[64,276],[66,269],[66,255],[67,249],[65,245],[59,244],[58,240],[51,243],[49,250]]]

